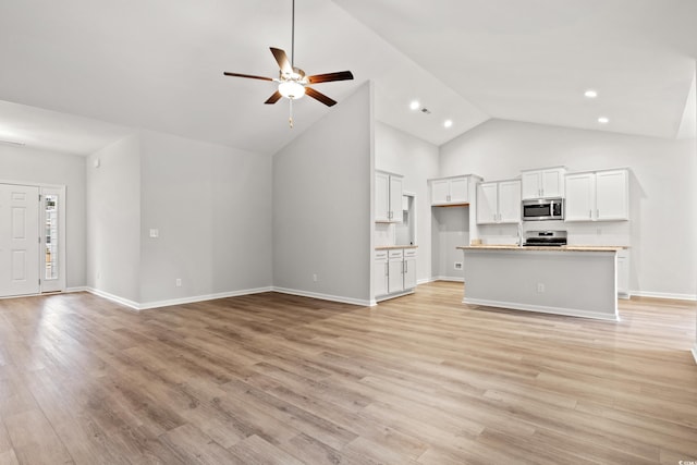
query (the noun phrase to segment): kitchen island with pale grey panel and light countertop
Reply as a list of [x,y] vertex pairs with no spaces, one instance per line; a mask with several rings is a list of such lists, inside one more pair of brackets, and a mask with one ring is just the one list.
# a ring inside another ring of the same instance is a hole
[[617,320],[623,247],[476,245],[464,252],[466,304]]

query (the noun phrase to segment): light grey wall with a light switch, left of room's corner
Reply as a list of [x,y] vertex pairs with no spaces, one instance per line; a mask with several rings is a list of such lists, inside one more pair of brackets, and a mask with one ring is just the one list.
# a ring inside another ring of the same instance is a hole
[[142,304],[271,286],[270,156],[145,131],[140,173]]

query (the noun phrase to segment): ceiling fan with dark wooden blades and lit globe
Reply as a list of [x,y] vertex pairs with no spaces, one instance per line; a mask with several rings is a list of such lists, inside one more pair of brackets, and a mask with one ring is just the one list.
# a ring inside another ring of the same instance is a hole
[[291,117],[289,118],[290,126],[293,127],[293,100],[302,98],[305,94],[325,103],[327,107],[337,105],[337,101],[327,97],[325,94],[315,90],[309,87],[310,84],[321,84],[332,81],[347,81],[353,79],[351,71],[339,71],[335,73],[315,74],[311,76],[305,75],[305,72],[299,68],[295,68],[295,0],[293,0],[293,15],[291,25],[291,60],[288,60],[285,51],[280,48],[270,47],[276,62],[279,64],[279,77],[266,77],[255,76],[252,74],[229,73],[224,72],[225,76],[247,77],[250,79],[272,81],[279,83],[278,89],[269,97],[265,103],[273,105],[285,97],[290,100]]

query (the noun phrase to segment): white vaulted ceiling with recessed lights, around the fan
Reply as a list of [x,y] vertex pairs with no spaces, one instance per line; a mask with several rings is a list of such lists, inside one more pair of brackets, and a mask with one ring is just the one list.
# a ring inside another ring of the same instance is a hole
[[[694,0],[296,3],[295,64],[355,76],[316,88],[341,105],[372,79],[377,118],[437,145],[489,118],[673,138],[687,113]],[[148,129],[274,152],[332,110],[306,97],[290,130],[272,83],[222,73],[276,76],[290,20],[290,0],[3,0],[0,139],[88,154]]]

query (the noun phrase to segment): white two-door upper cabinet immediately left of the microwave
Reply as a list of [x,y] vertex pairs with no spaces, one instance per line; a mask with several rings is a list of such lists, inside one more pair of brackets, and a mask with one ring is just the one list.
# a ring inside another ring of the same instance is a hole
[[477,224],[521,221],[521,181],[498,181],[477,185]]

